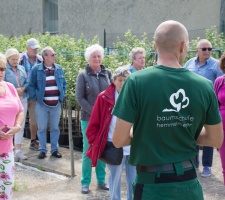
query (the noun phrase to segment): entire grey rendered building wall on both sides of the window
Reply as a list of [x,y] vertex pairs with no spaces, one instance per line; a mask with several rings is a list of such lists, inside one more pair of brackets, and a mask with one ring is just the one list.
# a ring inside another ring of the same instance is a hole
[[[58,0],[59,34],[79,38],[98,35],[107,46],[128,29],[133,34],[153,36],[162,21],[183,23],[190,38],[196,38],[210,26],[220,24],[221,0]],[[44,32],[45,0],[0,0],[0,34],[19,36]],[[204,36],[203,36],[204,37]]]

